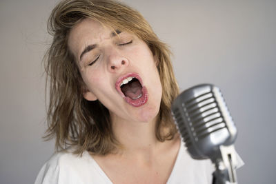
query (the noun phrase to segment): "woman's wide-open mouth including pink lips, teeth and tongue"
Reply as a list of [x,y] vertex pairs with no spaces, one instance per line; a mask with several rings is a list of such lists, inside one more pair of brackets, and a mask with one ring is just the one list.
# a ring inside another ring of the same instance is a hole
[[148,101],[148,92],[138,74],[132,73],[120,77],[117,80],[116,89],[124,100],[132,106],[139,107]]

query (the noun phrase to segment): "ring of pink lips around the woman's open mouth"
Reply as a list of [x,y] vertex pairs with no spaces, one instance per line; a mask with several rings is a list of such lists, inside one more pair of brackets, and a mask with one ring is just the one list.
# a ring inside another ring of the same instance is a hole
[[[135,77],[142,86],[142,90],[141,90],[142,96],[139,99],[135,99],[135,100],[130,99],[128,96],[125,96],[125,94],[123,92],[121,92],[121,87],[120,87],[121,82],[130,76]],[[116,88],[117,92],[119,92],[121,97],[126,101],[126,103],[128,103],[134,107],[139,107],[141,105],[144,105],[148,101],[148,90],[146,89],[146,86],[144,86],[144,83],[141,80],[141,77],[137,73],[132,72],[132,73],[128,73],[123,76],[120,76],[115,83],[115,88]]]

